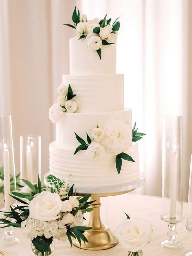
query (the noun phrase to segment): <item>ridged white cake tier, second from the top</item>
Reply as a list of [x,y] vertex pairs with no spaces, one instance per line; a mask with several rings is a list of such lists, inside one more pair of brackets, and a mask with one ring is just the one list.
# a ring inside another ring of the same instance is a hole
[[63,75],[63,84],[71,85],[79,107],[76,112],[96,113],[124,108],[124,75]]

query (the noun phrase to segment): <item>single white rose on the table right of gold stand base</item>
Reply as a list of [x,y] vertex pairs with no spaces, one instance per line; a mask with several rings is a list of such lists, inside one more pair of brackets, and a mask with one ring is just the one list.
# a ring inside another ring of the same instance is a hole
[[115,231],[119,243],[130,252],[141,250],[151,238],[151,224],[134,218],[124,220]]

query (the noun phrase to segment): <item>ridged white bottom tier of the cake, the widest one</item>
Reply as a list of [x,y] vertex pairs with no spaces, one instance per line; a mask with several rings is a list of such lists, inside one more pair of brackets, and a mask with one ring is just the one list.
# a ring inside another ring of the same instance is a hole
[[66,150],[53,141],[50,144],[50,174],[65,180],[74,187],[103,187],[121,185],[139,178],[138,144],[132,143],[128,151],[135,162],[122,159],[121,172],[118,174],[115,155],[108,153],[102,161],[90,161],[85,151]]

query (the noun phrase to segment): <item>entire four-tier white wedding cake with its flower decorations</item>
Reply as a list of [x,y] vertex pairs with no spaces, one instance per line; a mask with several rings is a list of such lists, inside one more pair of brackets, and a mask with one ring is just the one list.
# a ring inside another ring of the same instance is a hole
[[87,21],[73,12],[77,35],[69,40],[70,74],[49,110],[56,123],[50,173],[76,187],[107,187],[139,178],[138,143],[132,110],[124,109],[124,75],[116,74],[119,21]]

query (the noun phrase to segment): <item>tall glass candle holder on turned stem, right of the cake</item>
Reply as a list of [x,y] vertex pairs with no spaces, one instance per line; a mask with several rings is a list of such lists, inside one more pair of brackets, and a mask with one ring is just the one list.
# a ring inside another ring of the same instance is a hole
[[161,220],[168,223],[168,239],[161,248],[178,251],[183,245],[176,240],[177,223],[184,220],[182,213],[182,117],[162,118],[162,198]]

